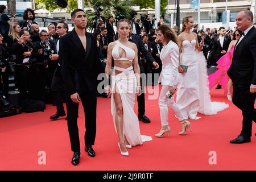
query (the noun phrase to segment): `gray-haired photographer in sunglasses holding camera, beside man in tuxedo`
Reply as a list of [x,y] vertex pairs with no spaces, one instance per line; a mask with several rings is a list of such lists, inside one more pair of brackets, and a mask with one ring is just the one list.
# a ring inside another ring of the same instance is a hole
[[35,43],[36,49],[38,49],[38,70],[35,72],[35,82],[39,95],[37,100],[46,101],[46,86],[50,88],[53,73],[57,68],[57,63],[50,60],[50,57],[54,52],[54,43],[49,40],[49,34],[46,30],[40,31],[40,41]]

